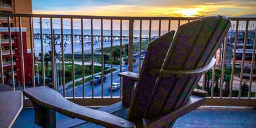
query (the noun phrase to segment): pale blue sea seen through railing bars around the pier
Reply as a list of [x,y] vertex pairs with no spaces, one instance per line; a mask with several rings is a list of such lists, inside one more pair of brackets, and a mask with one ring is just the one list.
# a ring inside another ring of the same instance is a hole
[[[54,29],[55,34],[61,34],[61,30],[60,29]],[[164,34],[167,31],[162,31],[161,33]],[[39,34],[40,33],[40,29],[38,28],[34,28],[34,33],[35,34]],[[50,34],[50,29],[43,29],[43,33],[44,34]],[[71,34],[71,29],[63,29],[63,34]],[[81,30],[78,29],[74,29],[73,30],[73,34],[81,34]],[[101,30],[94,30],[94,35],[100,35],[101,34]],[[104,36],[110,36],[110,30],[104,30],[103,31]],[[123,36],[128,36],[129,35],[129,31],[128,30],[123,30],[122,31]],[[90,30],[84,30],[84,35],[90,35]],[[152,30],[151,31],[151,35],[152,37],[154,36],[158,36],[158,31],[157,30]],[[113,36],[120,36],[120,30],[113,30]],[[139,30],[134,30],[134,37],[139,37]],[[142,37],[143,38],[148,38],[148,30],[143,30],[142,31]],[[35,49],[36,49],[36,55],[38,55],[38,53],[41,52],[41,41],[40,40],[34,40],[35,42]],[[48,46],[48,43],[50,42],[50,40],[43,40],[44,42],[44,53],[51,51],[50,46]],[[59,44],[61,42],[61,40],[57,40],[57,44]],[[67,43],[67,46],[65,47],[65,53],[71,53],[71,40],[65,40],[65,43]],[[84,41],[84,42],[90,42],[90,41]],[[123,44],[127,44],[128,40],[123,40]],[[119,46],[120,42],[119,41],[113,41],[113,46]],[[110,47],[110,42],[104,42],[103,44],[104,48],[106,47]],[[85,43],[84,44],[84,50],[85,52],[90,52],[91,50],[91,44],[90,43]],[[100,42],[94,42],[94,49],[100,49],[101,48],[101,44]],[[55,47],[57,52],[61,52],[61,47],[60,46],[56,46]],[[74,41],[74,52],[80,52],[82,51],[82,44],[80,43],[80,41]]]

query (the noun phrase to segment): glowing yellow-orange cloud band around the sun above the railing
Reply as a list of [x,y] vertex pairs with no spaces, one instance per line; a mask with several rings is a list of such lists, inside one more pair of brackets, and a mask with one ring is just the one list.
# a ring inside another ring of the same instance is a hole
[[33,13],[55,15],[100,15],[100,16],[199,16],[226,15],[238,16],[255,14],[256,9],[249,5],[239,5],[234,1],[203,3],[201,5],[170,5],[164,7],[143,5],[107,5],[84,8],[55,8],[36,10]]

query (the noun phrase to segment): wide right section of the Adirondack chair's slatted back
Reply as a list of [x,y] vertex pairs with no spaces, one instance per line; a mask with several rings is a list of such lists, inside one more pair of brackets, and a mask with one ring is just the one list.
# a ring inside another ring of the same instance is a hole
[[[208,16],[179,26],[162,69],[182,71],[204,67],[216,53],[229,28],[230,20],[224,16]],[[151,59],[150,56],[146,57],[148,60],[144,63]],[[146,66],[144,63],[143,66]],[[143,69],[148,68],[151,67],[143,67],[141,70],[135,88],[137,94],[133,96],[127,119],[154,117],[176,110],[187,102],[202,76],[171,75],[170,77],[158,76],[157,79],[141,76],[147,73]],[[148,84],[149,82],[154,84]],[[147,90],[143,90],[141,86],[150,88],[151,92],[146,92]]]

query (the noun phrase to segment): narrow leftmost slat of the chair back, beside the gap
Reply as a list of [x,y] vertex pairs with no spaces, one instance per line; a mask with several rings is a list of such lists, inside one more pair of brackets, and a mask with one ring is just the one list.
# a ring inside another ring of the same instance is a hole
[[[145,96],[150,96],[150,94],[153,91],[152,86],[154,86],[154,82],[158,78],[157,75],[150,75],[149,69],[156,68],[160,69],[162,67],[162,64],[164,63],[164,59],[166,57],[166,54],[168,53],[168,49],[170,48],[170,45],[172,43],[172,40],[174,38],[175,31],[172,30],[164,35],[162,35],[160,38],[157,38],[156,40],[150,42],[148,44],[148,48],[146,50],[146,55],[144,57],[143,67],[141,68],[141,73],[139,75],[139,80],[137,85],[144,84],[146,86],[136,86],[136,88],[139,88],[135,90],[134,97],[136,100],[133,100],[131,104],[141,104],[142,108],[140,106],[137,106],[135,109],[138,109],[138,116],[143,114],[139,112],[144,112],[144,107],[149,102],[149,99]],[[142,81],[143,80],[143,81]],[[137,92],[141,91],[143,92]],[[131,105],[133,106],[133,105]],[[133,108],[130,108],[133,109]],[[141,111],[140,111],[141,110]],[[136,110],[132,110],[136,111]],[[137,117],[133,115],[133,117]]]

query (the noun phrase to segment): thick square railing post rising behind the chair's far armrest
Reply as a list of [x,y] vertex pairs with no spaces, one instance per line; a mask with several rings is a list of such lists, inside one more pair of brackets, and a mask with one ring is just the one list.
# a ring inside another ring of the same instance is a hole
[[128,50],[128,70],[133,71],[133,22],[129,20],[129,50]]

